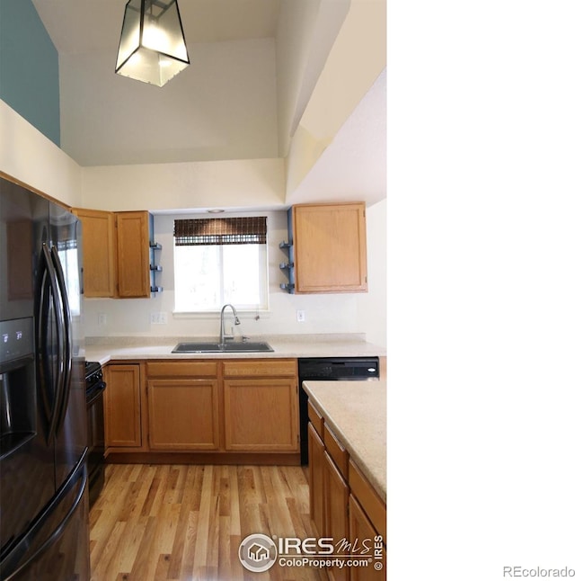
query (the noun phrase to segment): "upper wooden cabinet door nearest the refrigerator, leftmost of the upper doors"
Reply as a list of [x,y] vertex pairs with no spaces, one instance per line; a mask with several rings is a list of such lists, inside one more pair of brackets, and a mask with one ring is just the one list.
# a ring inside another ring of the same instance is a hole
[[82,221],[84,296],[113,297],[116,286],[116,228],[114,214],[75,209]]

